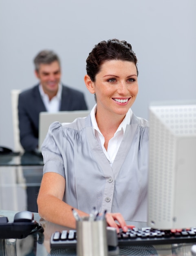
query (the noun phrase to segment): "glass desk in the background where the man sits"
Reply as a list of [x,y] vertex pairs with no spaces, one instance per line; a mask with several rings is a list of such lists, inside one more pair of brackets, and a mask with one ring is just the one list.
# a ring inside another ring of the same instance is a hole
[[0,154],[0,209],[37,212],[43,164],[41,154]]

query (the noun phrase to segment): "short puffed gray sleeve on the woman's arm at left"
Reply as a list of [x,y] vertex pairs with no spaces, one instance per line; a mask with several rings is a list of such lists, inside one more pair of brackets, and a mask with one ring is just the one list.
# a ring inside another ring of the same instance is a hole
[[48,133],[42,144],[42,155],[44,159],[43,173],[55,172],[65,178],[64,161],[62,158],[62,124],[54,122],[50,125]]

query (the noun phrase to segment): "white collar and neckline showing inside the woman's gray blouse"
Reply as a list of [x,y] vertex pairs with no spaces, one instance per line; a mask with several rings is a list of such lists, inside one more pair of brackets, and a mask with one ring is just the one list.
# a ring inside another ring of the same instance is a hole
[[106,150],[106,148],[104,147],[105,138],[101,134],[101,131],[99,130],[99,127],[97,126],[97,121],[96,121],[96,118],[95,118],[96,110],[97,110],[97,104],[95,104],[95,106],[92,108],[92,110],[90,112],[92,127],[94,129],[95,137],[96,137],[99,145],[101,146],[102,150],[104,151],[104,154],[106,155],[106,157],[107,157],[107,159],[110,163],[110,166],[112,166],[112,164],[114,162],[114,159],[117,155],[117,151],[119,149],[119,146],[121,144],[121,141],[123,139],[123,136],[124,136],[124,133],[125,133],[125,130],[126,130],[126,126],[128,124],[130,124],[130,120],[132,118],[132,110],[129,109],[125,118],[123,119],[123,121],[119,125],[118,129],[116,130],[116,132],[114,134],[114,137],[112,137],[109,140],[108,150]]

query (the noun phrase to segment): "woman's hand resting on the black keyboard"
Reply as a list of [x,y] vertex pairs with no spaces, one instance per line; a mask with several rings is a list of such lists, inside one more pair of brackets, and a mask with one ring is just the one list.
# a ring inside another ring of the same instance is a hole
[[119,233],[119,229],[121,228],[124,232],[128,231],[128,228],[132,229],[133,225],[127,225],[121,213],[106,213],[106,222],[108,226],[115,227],[117,229],[117,233]]

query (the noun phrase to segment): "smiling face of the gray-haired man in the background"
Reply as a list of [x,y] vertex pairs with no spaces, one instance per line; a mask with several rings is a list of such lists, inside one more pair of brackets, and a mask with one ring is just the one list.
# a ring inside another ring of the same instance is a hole
[[61,79],[61,69],[58,61],[51,64],[40,64],[39,70],[35,70],[35,75],[40,79],[42,88],[49,97],[57,94]]

